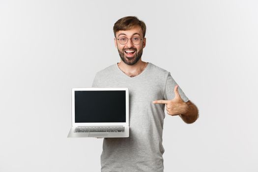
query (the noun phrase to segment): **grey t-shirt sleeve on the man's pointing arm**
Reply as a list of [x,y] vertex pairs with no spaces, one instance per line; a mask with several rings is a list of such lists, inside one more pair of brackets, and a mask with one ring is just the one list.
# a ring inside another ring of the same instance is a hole
[[[174,81],[174,79],[172,78],[170,72],[168,74],[167,77],[167,81],[166,81],[166,86],[165,86],[165,92],[164,92],[164,99],[165,100],[172,100],[174,98],[174,87],[176,86],[176,82]],[[178,86],[177,88],[181,98],[183,99],[184,102],[189,101],[188,97],[186,97],[185,93],[183,92],[183,90],[180,88],[180,86]]]

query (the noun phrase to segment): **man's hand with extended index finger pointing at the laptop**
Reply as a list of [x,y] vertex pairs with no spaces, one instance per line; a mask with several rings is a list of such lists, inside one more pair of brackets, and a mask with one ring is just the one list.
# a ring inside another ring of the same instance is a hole
[[155,100],[152,103],[154,104],[166,104],[166,110],[169,115],[180,115],[187,113],[188,104],[185,103],[180,97],[178,86],[174,87],[174,98],[172,100]]

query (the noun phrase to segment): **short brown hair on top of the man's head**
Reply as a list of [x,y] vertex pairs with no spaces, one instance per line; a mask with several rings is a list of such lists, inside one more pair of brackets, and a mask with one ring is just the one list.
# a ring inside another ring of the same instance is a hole
[[119,30],[129,30],[135,26],[140,26],[142,28],[144,38],[146,33],[146,25],[135,16],[127,16],[117,20],[113,27],[114,34]]

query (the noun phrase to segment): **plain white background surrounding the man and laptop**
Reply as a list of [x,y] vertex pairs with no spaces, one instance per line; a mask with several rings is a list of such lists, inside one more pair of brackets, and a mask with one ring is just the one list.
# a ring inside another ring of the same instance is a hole
[[114,23],[146,23],[143,61],[200,110],[167,115],[165,172],[258,172],[258,1],[0,0],[0,172],[99,172],[102,139],[68,139],[71,88],[119,62]]

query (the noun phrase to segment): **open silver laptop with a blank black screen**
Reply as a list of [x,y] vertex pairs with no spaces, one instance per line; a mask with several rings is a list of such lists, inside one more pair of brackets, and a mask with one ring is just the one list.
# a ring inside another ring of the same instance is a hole
[[72,127],[67,137],[129,137],[128,88],[72,88]]

